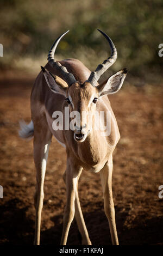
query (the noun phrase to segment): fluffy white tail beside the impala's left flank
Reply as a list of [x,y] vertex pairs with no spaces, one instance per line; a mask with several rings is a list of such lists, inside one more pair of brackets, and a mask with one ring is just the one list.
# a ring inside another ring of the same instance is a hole
[[26,124],[24,120],[19,122],[21,130],[18,131],[18,135],[23,139],[32,139],[34,134],[34,124],[31,120],[29,124]]

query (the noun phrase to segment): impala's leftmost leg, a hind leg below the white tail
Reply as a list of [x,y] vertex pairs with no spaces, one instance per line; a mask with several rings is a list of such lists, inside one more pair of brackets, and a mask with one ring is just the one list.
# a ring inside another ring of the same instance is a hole
[[48,157],[48,149],[51,143],[52,133],[48,127],[43,125],[43,131],[34,130],[34,162],[36,167],[36,192],[34,196],[34,204],[36,210],[35,217],[35,240],[34,244],[40,244],[40,226],[41,212],[43,206],[43,183],[45,179],[46,163]]

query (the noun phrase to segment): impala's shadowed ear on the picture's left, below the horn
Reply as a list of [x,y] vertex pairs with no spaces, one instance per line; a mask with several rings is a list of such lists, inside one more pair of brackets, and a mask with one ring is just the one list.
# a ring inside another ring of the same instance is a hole
[[68,84],[60,77],[52,75],[51,72],[43,68],[43,66],[41,66],[41,69],[43,75],[45,76],[48,87],[52,90],[52,92],[66,95]]

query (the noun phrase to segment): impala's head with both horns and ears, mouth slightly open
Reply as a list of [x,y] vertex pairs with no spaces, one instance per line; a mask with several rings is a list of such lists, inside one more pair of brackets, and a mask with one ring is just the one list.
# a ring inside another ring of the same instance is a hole
[[62,36],[64,36],[68,31],[59,36],[48,54],[49,64],[54,67],[57,74],[59,74],[62,80],[67,83],[67,87],[65,87],[64,81],[58,80],[57,76],[53,76],[51,72],[41,67],[49,88],[55,93],[65,95],[65,100],[70,108],[70,117],[72,112],[79,113],[78,121],[74,123],[74,139],[77,142],[85,141],[87,135],[89,135],[90,131],[92,130],[93,119],[96,117],[95,113],[98,101],[101,100],[103,95],[118,92],[118,90],[121,89],[124,78],[127,75],[127,69],[123,69],[109,77],[103,83],[98,84],[98,80],[101,75],[107,69],[109,69],[109,67],[114,64],[117,59],[116,48],[109,36],[99,29],[98,31],[101,32],[109,42],[111,56],[104,60],[102,64],[99,64],[97,69],[91,72],[89,78],[84,83],[78,82],[73,74],[67,71],[65,66],[62,66],[54,59],[54,53],[57,45],[59,44]]

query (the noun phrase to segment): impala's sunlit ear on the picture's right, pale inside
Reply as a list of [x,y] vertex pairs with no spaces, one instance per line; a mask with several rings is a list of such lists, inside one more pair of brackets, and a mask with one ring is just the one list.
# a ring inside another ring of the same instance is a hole
[[99,97],[105,94],[113,94],[118,92],[121,89],[124,78],[127,75],[127,69],[122,69],[118,71],[116,74],[109,77],[108,80],[99,84],[97,86]]

